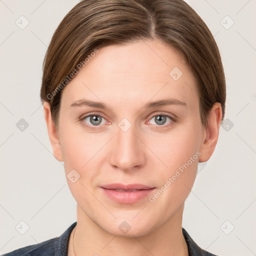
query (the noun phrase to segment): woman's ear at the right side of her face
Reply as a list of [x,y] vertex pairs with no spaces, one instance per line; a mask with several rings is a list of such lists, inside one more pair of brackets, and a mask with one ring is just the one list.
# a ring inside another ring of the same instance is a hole
[[216,102],[213,104],[209,115],[208,124],[203,127],[202,143],[200,146],[201,155],[198,158],[199,162],[207,161],[212,155],[218,140],[218,132],[222,118],[221,104]]

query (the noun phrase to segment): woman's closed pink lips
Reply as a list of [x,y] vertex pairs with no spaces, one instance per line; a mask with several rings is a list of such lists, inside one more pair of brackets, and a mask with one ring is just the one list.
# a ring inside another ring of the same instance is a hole
[[155,187],[138,183],[127,185],[121,183],[105,184],[101,185],[100,188],[110,199],[124,204],[137,202],[155,189]]

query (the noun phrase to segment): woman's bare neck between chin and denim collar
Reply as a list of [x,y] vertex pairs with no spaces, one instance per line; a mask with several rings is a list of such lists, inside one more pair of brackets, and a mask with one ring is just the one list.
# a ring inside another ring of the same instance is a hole
[[187,256],[187,245],[181,228],[183,207],[182,204],[157,229],[142,236],[124,237],[103,230],[77,205],[77,223],[70,235],[68,256]]

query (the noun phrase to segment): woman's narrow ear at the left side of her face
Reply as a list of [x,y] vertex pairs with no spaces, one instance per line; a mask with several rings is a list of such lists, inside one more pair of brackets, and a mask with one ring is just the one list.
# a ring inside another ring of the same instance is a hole
[[42,105],[43,105],[44,118],[47,125],[47,130],[48,130],[48,135],[49,135],[53,155],[58,161],[62,162],[63,157],[62,157],[59,137],[58,137],[57,129],[51,118],[50,105],[46,101],[44,101]]

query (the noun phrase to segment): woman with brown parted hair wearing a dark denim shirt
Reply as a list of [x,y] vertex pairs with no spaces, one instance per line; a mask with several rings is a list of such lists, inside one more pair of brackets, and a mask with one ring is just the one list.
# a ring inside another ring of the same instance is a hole
[[47,49],[40,92],[77,221],[5,255],[213,255],[182,228],[217,143],[217,45],[182,0],[82,0]]

